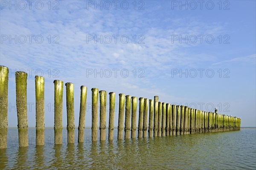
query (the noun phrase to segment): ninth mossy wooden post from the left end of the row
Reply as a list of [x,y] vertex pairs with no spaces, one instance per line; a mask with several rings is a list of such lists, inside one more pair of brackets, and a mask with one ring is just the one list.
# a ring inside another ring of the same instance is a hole
[[115,118],[115,99],[114,92],[109,93],[109,122],[108,122],[108,140],[114,138],[114,118]]

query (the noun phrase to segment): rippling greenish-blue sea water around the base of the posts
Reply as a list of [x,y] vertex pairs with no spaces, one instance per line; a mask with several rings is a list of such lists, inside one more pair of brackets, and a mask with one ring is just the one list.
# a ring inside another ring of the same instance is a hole
[[76,129],[75,144],[67,144],[64,129],[61,145],[54,145],[54,130],[45,129],[44,146],[35,146],[35,129],[29,129],[29,147],[21,148],[17,134],[8,129],[0,169],[256,169],[256,129],[95,143],[90,129],[84,143],[77,143]]

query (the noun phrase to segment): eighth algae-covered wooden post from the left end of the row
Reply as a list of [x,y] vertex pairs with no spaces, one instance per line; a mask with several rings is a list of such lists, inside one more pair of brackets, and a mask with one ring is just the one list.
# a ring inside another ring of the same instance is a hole
[[107,92],[99,91],[99,140],[106,140]]

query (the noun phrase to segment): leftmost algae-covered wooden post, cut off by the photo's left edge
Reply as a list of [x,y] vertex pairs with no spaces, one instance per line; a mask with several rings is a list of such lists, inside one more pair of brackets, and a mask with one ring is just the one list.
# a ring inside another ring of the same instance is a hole
[[7,148],[9,69],[0,65],[0,149]]

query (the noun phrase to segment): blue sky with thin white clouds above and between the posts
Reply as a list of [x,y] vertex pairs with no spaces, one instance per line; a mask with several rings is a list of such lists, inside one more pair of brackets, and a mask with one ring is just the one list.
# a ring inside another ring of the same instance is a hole
[[[17,127],[15,71],[26,71],[28,125],[35,127],[35,76],[45,79],[45,126],[54,126],[55,79],[187,105],[256,126],[256,1],[0,0],[0,65],[9,68],[8,127]],[[63,127],[67,126],[63,90]],[[138,103],[138,102],[137,102]],[[108,127],[107,105],[107,127]],[[138,110],[139,108],[137,108]],[[99,122],[99,121],[98,121]],[[138,112],[137,112],[138,125]]]

